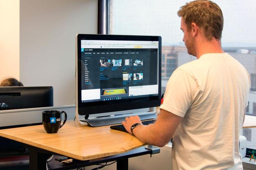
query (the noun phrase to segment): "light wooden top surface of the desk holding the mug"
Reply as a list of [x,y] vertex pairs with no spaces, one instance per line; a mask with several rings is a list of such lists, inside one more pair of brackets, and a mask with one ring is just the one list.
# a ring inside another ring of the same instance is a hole
[[71,120],[58,133],[46,133],[43,125],[38,125],[2,129],[0,136],[78,160],[116,155],[145,145],[133,135],[109,126],[82,126]]

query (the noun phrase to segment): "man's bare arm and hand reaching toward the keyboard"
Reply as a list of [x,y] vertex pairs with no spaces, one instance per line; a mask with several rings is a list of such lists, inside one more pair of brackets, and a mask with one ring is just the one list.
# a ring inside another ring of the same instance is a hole
[[131,133],[131,125],[140,123],[138,127],[134,128],[133,134],[141,141],[154,146],[163,147],[167,144],[179,126],[183,117],[179,117],[166,110],[161,109],[154,124],[142,125],[138,116],[126,117],[122,124],[125,129]]

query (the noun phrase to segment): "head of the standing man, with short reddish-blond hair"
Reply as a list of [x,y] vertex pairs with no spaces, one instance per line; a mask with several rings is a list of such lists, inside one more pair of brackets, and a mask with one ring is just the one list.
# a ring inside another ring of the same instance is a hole
[[224,19],[217,4],[209,0],[195,0],[186,3],[177,14],[181,17],[183,41],[188,54],[197,56],[197,49],[204,44],[220,45]]

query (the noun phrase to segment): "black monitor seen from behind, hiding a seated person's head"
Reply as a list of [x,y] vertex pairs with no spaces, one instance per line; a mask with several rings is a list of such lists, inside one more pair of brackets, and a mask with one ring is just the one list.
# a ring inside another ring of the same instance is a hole
[[52,86],[0,87],[0,110],[53,106]]

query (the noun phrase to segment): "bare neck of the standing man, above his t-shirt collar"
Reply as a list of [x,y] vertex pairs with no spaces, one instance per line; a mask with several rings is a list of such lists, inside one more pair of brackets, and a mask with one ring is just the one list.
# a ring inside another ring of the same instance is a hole
[[220,40],[216,40],[215,38],[211,41],[199,40],[199,43],[197,44],[198,46],[195,47],[197,59],[208,53],[224,53]]

